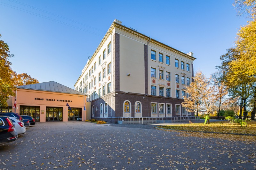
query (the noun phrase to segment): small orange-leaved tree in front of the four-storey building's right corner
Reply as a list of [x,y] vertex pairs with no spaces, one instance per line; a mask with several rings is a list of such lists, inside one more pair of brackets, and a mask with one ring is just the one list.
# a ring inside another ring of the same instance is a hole
[[184,96],[182,107],[186,107],[188,112],[195,112],[196,116],[198,116],[200,110],[206,110],[207,114],[210,114],[215,106],[210,80],[206,78],[202,71],[197,71],[193,80],[194,82],[186,86],[188,95]]

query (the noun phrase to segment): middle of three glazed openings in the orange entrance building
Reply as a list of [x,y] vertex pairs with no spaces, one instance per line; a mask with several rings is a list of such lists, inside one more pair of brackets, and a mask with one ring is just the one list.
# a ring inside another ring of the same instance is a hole
[[46,107],[46,121],[62,121],[62,107]]

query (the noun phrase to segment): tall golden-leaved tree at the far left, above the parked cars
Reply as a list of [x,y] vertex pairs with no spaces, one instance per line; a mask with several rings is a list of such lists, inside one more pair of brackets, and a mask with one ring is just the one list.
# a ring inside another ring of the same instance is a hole
[[[0,34],[0,37],[1,34]],[[8,45],[0,40],[0,106],[6,107],[7,99],[9,96],[15,96],[13,90],[15,87],[12,84],[11,74],[12,63],[9,61],[9,58],[13,55],[10,54]]]

